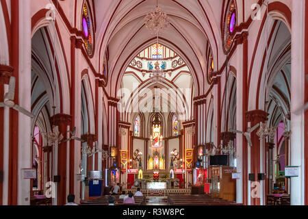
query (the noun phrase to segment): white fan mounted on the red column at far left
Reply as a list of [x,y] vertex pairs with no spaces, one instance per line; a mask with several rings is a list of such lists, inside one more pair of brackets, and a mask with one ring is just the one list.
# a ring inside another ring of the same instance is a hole
[[13,108],[16,111],[21,112],[22,114],[25,114],[26,116],[34,118],[34,115],[31,114],[29,111],[25,110],[23,107],[21,107],[19,105],[16,105],[14,103],[15,84],[16,84],[16,78],[15,77],[10,77],[9,90],[4,95],[4,103],[0,103],[0,107]]

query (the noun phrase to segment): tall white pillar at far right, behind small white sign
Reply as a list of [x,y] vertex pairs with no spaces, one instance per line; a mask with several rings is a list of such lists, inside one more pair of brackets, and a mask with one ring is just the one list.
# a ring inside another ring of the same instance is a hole
[[305,0],[292,1],[292,77],[291,77],[291,166],[299,166],[299,176],[291,179],[291,205],[305,205]]

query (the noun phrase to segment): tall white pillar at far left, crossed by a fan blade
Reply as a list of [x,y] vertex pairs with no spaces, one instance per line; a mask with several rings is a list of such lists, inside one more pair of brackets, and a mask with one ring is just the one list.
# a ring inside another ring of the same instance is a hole
[[[19,105],[31,111],[31,15],[30,4],[19,1]],[[23,169],[31,168],[31,118],[18,114],[18,205],[30,204],[30,180]]]

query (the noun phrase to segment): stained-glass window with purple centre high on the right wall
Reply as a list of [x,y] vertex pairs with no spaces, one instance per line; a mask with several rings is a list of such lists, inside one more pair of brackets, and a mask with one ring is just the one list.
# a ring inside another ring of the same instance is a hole
[[234,0],[231,1],[229,8],[227,10],[228,11],[224,25],[224,49],[226,52],[229,52],[234,40],[233,31],[236,27],[236,18],[237,18]]

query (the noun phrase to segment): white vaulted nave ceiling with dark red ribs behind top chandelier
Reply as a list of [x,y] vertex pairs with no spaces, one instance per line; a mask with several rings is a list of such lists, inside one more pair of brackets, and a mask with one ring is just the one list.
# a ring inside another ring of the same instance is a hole
[[[131,59],[155,43],[156,38],[144,25],[144,17],[155,8],[156,0],[95,0],[99,59],[108,56],[109,83],[113,95]],[[170,26],[159,35],[164,44],[183,58],[188,65],[196,95],[203,94],[206,82],[206,51],[211,47],[218,57],[221,48],[220,19],[222,0],[164,0],[158,5],[170,19]],[[211,20],[209,21],[209,18]]]

